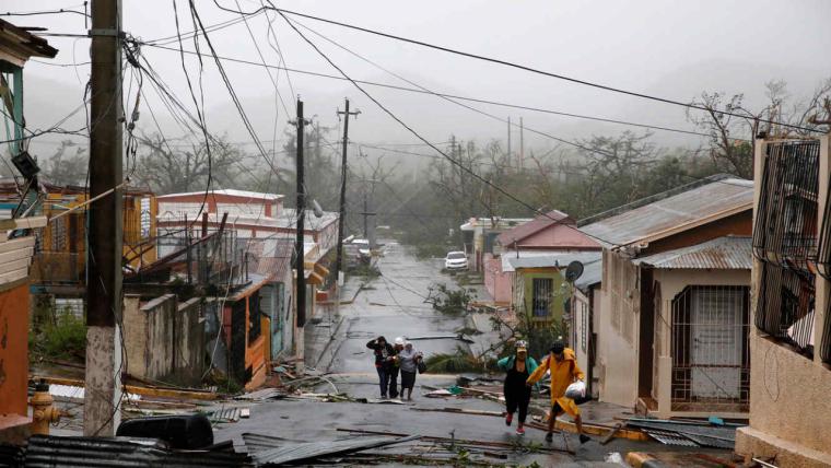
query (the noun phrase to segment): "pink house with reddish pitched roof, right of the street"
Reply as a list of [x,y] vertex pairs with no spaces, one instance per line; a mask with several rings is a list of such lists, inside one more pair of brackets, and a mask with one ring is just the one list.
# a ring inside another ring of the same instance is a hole
[[535,218],[496,237],[495,254],[485,255],[484,286],[498,305],[510,305],[514,271],[506,257],[539,257],[551,254],[600,251],[592,237],[577,230],[577,222],[559,210]]

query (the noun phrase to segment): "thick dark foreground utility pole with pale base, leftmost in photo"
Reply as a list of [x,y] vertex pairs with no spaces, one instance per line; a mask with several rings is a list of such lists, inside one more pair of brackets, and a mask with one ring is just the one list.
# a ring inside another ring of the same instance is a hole
[[121,420],[121,1],[92,2],[90,203],[84,435],[114,436]]

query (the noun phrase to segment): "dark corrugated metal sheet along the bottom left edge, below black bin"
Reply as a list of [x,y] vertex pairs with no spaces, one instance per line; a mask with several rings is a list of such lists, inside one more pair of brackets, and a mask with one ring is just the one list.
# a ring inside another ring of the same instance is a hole
[[251,467],[247,454],[176,452],[154,440],[34,435],[24,455],[27,468],[78,467]]

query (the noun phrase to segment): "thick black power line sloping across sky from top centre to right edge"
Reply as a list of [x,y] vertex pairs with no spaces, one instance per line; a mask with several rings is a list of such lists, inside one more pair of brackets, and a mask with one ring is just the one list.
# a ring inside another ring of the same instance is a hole
[[348,23],[342,23],[342,22],[339,22],[339,21],[327,20],[327,19],[320,17],[320,16],[314,16],[314,15],[311,15],[311,14],[300,13],[300,12],[295,12],[295,11],[291,11],[291,10],[285,10],[285,9],[276,9],[276,10],[278,12],[280,12],[281,14],[283,14],[283,17],[285,17],[285,14],[307,17],[309,20],[319,21],[319,22],[323,22],[323,23],[333,24],[333,25],[341,26],[341,27],[348,27],[350,30],[361,31],[363,33],[373,34],[373,35],[376,35],[376,36],[382,36],[382,37],[386,37],[386,38],[389,38],[389,39],[400,40],[400,42],[405,42],[405,43],[409,43],[409,44],[414,44],[414,45],[418,45],[418,46],[428,47],[428,48],[431,48],[431,49],[441,50],[441,51],[448,52],[448,54],[455,54],[455,55],[463,56],[463,57],[468,57],[468,58],[472,58],[472,59],[477,59],[477,60],[483,60],[483,61],[491,62],[491,63],[498,63],[498,65],[502,65],[502,66],[505,66],[505,67],[511,67],[511,68],[515,68],[515,69],[518,69],[518,70],[527,71],[527,72],[530,72],[530,73],[541,74],[541,75],[549,77],[549,78],[554,78],[554,79],[558,79],[558,80],[569,81],[569,82],[572,82],[572,83],[575,83],[575,84],[582,84],[582,85],[595,87],[595,89],[598,89],[598,90],[609,91],[609,92],[612,92],[612,93],[625,94],[625,95],[629,95],[629,96],[634,96],[634,97],[640,97],[640,98],[644,98],[644,100],[655,101],[655,102],[659,102],[659,103],[664,103],[664,104],[671,104],[671,105],[676,105],[676,106],[680,106],[680,107],[686,107],[686,108],[691,108],[691,109],[697,109],[697,110],[703,110],[703,112],[706,112],[706,113],[715,112],[716,114],[723,114],[723,115],[727,115],[727,116],[731,116],[731,117],[739,117],[739,118],[745,118],[745,119],[747,119],[747,118],[753,118],[753,119],[757,119],[760,122],[779,125],[779,126],[782,126],[782,127],[793,128],[793,129],[796,129],[796,130],[804,130],[804,131],[811,131],[811,132],[821,132],[821,130],[814,129],[814,128],[806,128],[806,127],[800,127],[798,125],[792,125],[792,124],[786,124],[786,122],[781,122],[781,121],[775,121],[775,120],[770,120],[770,119],[756,118],[756,117],[748,116],[748,115],[736,114],[736,113],[733,113],[733,112],[729,112],[729,110],[719,110],[719,109],[707,108],[707,107],[704,107],[704,106],[701,106],[701,105],[698,105],[698,104],[683,103],[683,102],[680,102],[680,101],[675,101],[675,100],[670,100],[670,98],[666,98],[666,97],[653,96],[653,95],[645,94],[645,93],[623,90],[623,89],[620,89],[620,87],[609,86],[609,85],[606,85],[606,84],[599,84],[599,83],[590,82],[590,81],[587,81],[587,80],[581,80],[581,79],[576,79],[576,78],[572,78],[572,77],[566,77],[566,75],[563,75],[563,74],[559,74],[559,73],[548,72],[548,71],[545,71],[545,70],[536,69],[536,68],[532,68],[532,67],[524,66],[524,65],[512,62],[512,61],[507,61],[507,60],[501,60],[501,59],[496,59],[496,58],[492,58],[492,57],[487,57],[487,56],[482,56],[482,55],[478,55],[478,54],[466,52],[466,51],[458,50],[458,49],[453,49],[453,48],[449,48],[449,47],[444,47],[444,46],[438,46],[438,45],[435,45],[435,44],[425,43],[423,40],[410,39],[410,38],[407,38],[407,37],[397,36],[397,35],[388,34],[388,33],[383,33],[383,32],[375,31],[375,30],[370,30],[370,28],[366,28],[366,27],[355,26],[355,25],[348,24]]

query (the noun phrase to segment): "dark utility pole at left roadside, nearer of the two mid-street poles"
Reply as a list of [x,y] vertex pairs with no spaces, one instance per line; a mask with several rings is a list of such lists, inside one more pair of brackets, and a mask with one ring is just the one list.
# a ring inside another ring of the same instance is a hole
[[303,101],[297,98],[297,120],[294,121],[297,126],[297,167],[295,173],[297,174],[297,236],[294,244],[294,271],[296,274],[296,290],[294,292],[294,304],[297,309],[297,329],[295,332],[295,346],[296,354],[300,360],[297,365],[300,370],[303,368],[303,359],[305,355],[303,341],[303,327],[306,325],[306,273],[305,273],[305,256],[304,256],[304,225],[303,222],[306,217],[306,187],[304,182],[304,164],[303,164],[303,137],[305,133],[306,120],[303,118]]

